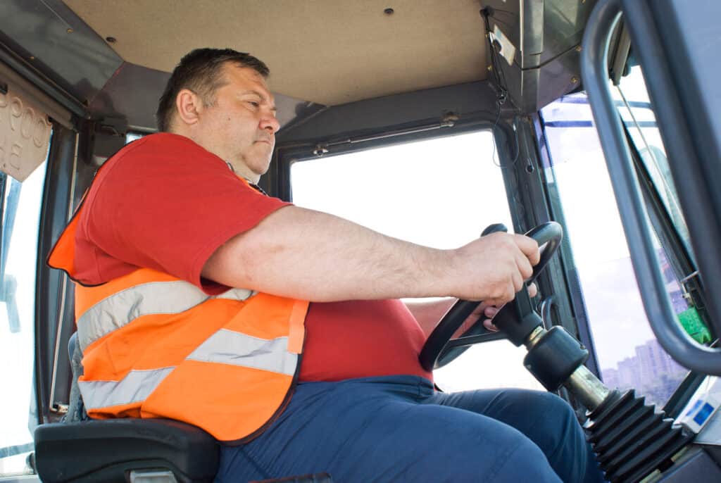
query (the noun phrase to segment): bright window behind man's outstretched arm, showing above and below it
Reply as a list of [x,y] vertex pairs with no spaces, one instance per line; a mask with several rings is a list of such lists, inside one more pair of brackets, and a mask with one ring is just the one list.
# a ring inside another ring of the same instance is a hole
[[[491,223],[513,226],[487,130],[296,162],[291,184],[296,205],[430,247],[459,247]],[[542,389],[523,368],[525,353],[506,340],[476,345],[435,381],[448,391]]]

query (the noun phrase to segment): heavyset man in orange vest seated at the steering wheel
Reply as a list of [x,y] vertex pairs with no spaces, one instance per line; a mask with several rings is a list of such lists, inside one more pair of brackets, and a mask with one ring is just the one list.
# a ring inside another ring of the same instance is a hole
[[107,161],[53,250],[79,283],[89,414],[203,427],[224,443],[218,481],[601,481],[557,396],[435,392],[417,358],[437,316],[398,300],[493,314],[536,243],[430,249],[262,194],[279,128],[267,74],[233,50],[185,56],[163,133]]

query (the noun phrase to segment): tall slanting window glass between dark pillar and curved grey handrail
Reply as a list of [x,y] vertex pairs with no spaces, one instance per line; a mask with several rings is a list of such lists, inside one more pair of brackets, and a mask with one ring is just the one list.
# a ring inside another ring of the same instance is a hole
[[[687,371],[648,324],[588,99],[563,97],[541,115],[552,158],[546,176],[559,192],[603,381],[663,405]],[[673,305],[683,311],[678,280],[656,243]]]

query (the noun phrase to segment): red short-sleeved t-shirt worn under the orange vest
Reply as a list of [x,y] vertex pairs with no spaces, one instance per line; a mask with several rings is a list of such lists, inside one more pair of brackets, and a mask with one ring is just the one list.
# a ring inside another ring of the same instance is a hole
[[[97,285],[148,267],[221,293],[228,287],[200,277],[208,258],[289,204],[249,187],[189,138],[146,136],[107,161],[84,200],[76,280]],[[401,301],[311,303],[300,379],[430,378],[418,363],[423,342]]]

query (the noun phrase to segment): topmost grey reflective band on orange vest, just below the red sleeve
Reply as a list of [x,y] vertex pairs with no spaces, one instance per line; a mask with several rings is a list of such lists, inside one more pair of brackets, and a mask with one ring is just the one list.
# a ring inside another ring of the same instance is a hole
[[243,301],[254,292],[232,288],[209,296],[185,280],[141,283],[102,299],[77,320],[81,350],[113,330],[120,329],[143,315],[180,314],[211,298]]

